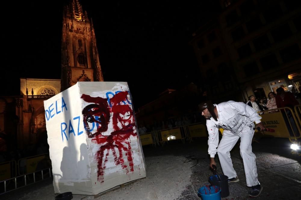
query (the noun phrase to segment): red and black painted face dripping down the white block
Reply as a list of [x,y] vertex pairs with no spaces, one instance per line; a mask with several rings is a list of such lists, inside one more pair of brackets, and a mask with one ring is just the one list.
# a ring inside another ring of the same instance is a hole
[[[119,92],[111,98],[112,108],[108,105],[107,99],[85,94],[81,97],[88,103],[94,103],[86,106],[82,110],[82,114],[88,137],[93,138],[92,141],[101,145],[95,156],[98,161],[97,177],[100,182],[104,182],[104,169],[106,169],[110,151],[113,154],[115,165],[121,165],[122,169],[126,169],[126,173],[134,171],[130,136],[137,137],[137,134],[134,133],[135,118],[129,105],[120,105],[122,101],[126,100],[127,95],[127,91]],[[98,120],[95,119],[96,116]],[[109,136],[103,136],[101,133],[107,131],[110,116],[112,116],[113,132]],[[91,133],[88,122],[98,124],[97,131],[94,134]],[[118,156],[116,149],[118,149]],[[105,151],[107,153],[104,155]],[[123,152],[125,152],[129,167],[124,162]]]

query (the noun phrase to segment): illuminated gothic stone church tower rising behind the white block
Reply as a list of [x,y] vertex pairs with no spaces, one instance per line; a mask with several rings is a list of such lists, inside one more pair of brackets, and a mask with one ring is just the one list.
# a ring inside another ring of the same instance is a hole
[[78,81],[104,81],[92,19],[78,0],[64,7],[61,91]]

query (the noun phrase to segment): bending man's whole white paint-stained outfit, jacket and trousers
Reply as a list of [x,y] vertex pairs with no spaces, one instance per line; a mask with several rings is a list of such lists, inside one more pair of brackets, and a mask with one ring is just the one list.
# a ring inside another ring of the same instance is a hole
[[[244,162],[247,186],[257,185],[256,156],[252,152],[251,143],[254,135],[254,122],[260,123],[261,117],[255,109],[242,102],[228,101],[215,106],[218,112],[218,121],[211,117],[206,122],[210,157],[214,157],[218,152],[224,174],[229,178],[236,177],[230,151],[240,138],[240,155]],[[219,128],[224,129],[220,143]]]

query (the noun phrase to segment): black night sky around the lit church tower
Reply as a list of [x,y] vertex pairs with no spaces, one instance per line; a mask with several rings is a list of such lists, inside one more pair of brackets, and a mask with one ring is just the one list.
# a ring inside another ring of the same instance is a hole
[[[20,77],[61,78],[62,10],[68,2],[2,4],[0,96],[20,94]],[[93,19],[104,80],[128,82],[136,108],[167,88],[199,83],[188,42],[219,13],[218,1],[79,2]]]

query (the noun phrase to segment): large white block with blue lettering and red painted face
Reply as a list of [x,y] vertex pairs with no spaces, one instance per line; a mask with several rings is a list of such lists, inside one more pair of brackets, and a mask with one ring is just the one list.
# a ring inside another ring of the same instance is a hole
[[146,176],[126,82],[77,82],[44,108],[55,193],[94,195]]

